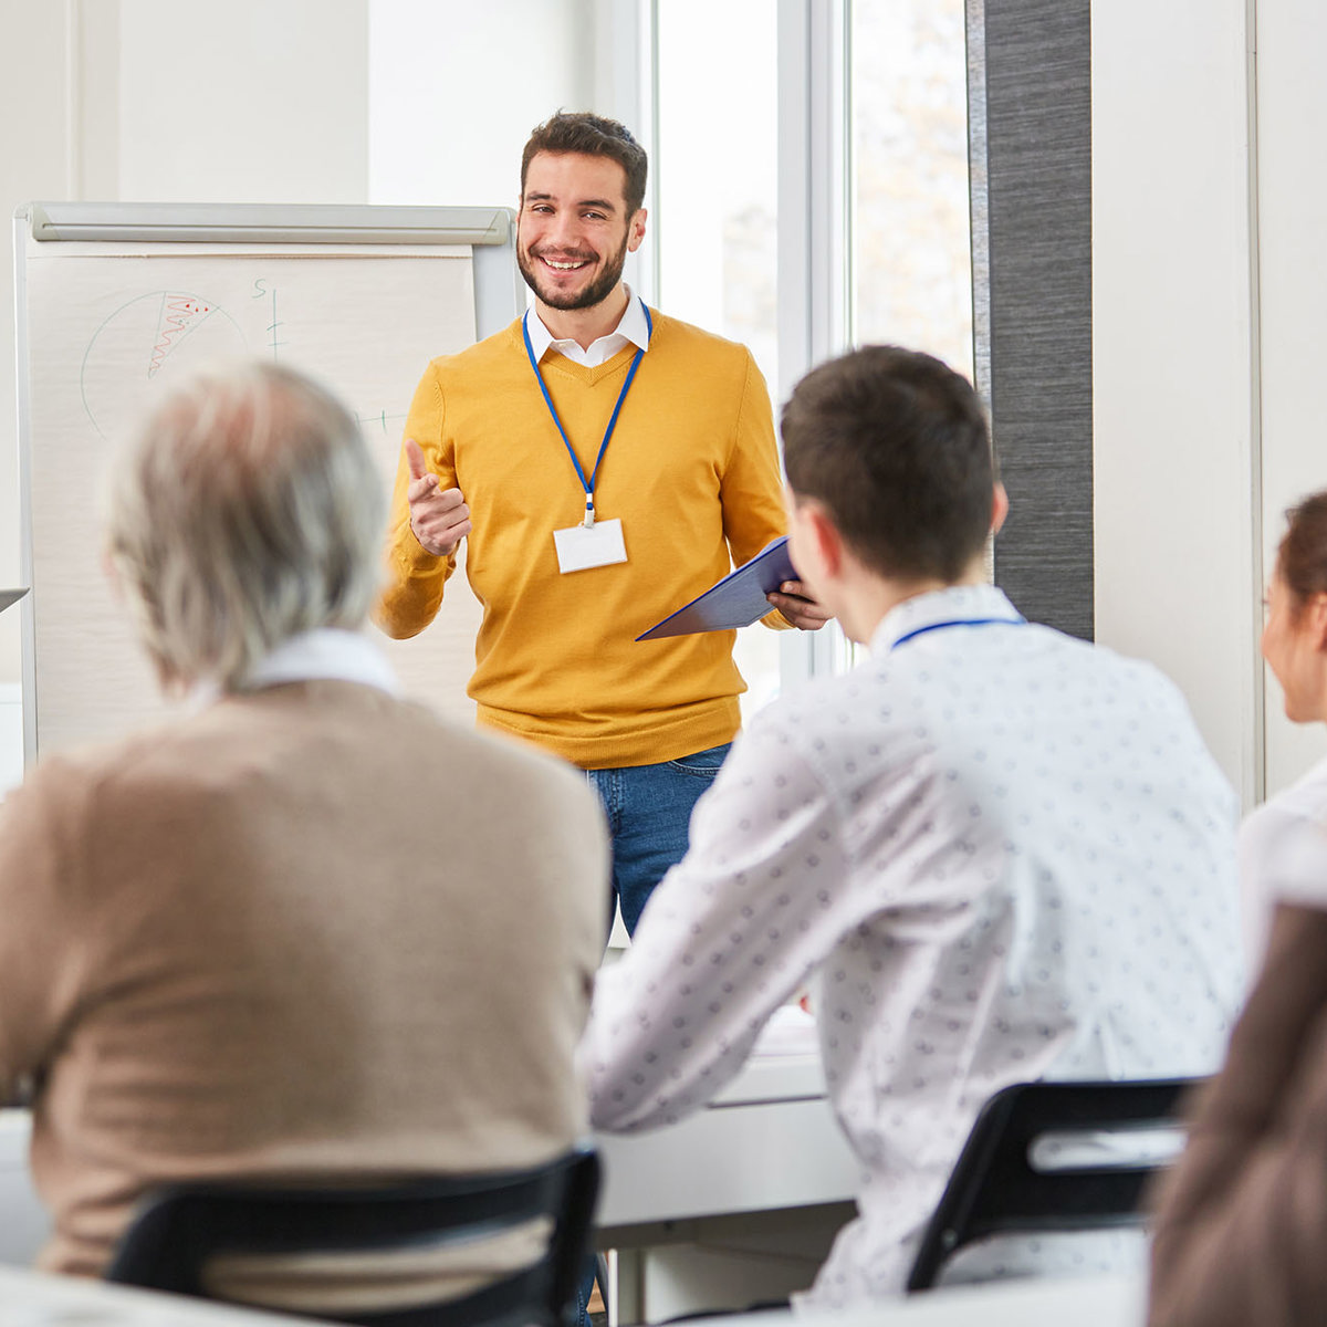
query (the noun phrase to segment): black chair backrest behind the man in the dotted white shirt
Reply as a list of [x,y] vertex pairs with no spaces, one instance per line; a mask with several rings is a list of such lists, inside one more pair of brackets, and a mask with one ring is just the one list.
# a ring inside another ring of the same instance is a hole
[[908,1290],[929,1289],[954,1253],[990,1235],[1140,1225],[1143,1190],[1160,1164],[1070,1161],[1039,1169],[1032,1145],[1046,1135],[1176,1125],[1197,1082],[1015,1083],[997,1092],[977,1116],[922,1235]]

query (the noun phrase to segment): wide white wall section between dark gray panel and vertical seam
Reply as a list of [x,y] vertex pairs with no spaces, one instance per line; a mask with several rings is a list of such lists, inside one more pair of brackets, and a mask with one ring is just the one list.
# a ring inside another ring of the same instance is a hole
[[1259,786],[1245,0],[1092,7],[1097,640]]

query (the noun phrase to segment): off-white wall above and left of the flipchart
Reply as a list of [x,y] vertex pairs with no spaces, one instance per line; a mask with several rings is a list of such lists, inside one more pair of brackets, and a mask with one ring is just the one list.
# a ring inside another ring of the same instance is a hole
[[[364,202],[368,0],[0,0],[0,305],[32,199]],[[19,584],[13,320],[0,318],[0,585]],[[0,683],[20,678],[0,616]]]

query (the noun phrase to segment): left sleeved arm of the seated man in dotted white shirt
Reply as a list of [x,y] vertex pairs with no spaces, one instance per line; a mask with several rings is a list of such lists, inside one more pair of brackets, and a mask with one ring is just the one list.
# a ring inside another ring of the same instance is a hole
[[738,1072],[841,934],[841,843],[820,780],[758,721],[698,803],[686,860],[596,983],[579,1056],[596,1128],[671,1123]]

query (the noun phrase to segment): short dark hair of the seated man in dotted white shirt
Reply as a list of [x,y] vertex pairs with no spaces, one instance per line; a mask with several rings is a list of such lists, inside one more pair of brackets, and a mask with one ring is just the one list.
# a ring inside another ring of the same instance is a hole
[[986,413],[934,356],[869,345],[812,369],[783,407],[783,455],[794,496],[823,503],[884,576],[954,581],[985,548]]

